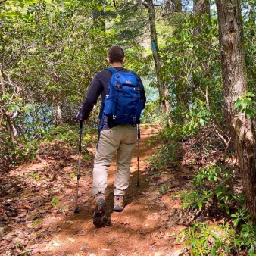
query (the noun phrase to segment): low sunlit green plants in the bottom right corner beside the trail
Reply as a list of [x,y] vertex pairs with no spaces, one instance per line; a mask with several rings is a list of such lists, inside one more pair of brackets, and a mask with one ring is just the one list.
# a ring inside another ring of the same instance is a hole
[[255,255],[256,226],[251,223],[242,224],[241,229],[234,229],[229,223],[210,226],[205,223],[193,223],[186,229],[182,237],[186,237],[192,255],[230,255],[248,251]]

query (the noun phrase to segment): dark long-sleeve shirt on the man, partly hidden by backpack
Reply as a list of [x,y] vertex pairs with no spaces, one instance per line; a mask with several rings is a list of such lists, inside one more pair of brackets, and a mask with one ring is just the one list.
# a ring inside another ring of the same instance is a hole
[[[123,72],[129,72],[129,70],[126,70],[123,67],[114,67],[115,70],[120,71],[122,70]],[[96,73],[94,76],[91,86],[89,87],[89,90],[87,92],[85,101],[83,102],[82,108],[80,109],[80,114],[78,119],[80,121],[87,120],[89,117],[89,114],[91,113],[94,105],[98,101],[99,95],[101,95],[101,105],[104,103],[105,96],[108,95],[108,83],[111,80],[112,73],[109,70],[102,70],[101,72]],[[138,75],[137,75],[138,76]],[[140,77],[138,76],[139,80]],[[145,90],[144,87],[142,89],[142,97],[143,97],[143,102],[145,108]]]

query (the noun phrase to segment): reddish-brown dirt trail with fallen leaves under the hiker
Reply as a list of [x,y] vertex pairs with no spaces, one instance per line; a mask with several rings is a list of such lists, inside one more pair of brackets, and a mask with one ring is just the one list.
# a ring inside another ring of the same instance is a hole
[[[139,186],[135,148],[126,208],[111,214],[109,226],[92,224],[92,159],[81,161],[78,214],[73,213],[76,195],[77,151],[66,145],[49,146],[38,161],[24,164],[2,177],[17,185],[0,198],[1,255],[188,255],[176,239],[184,228],[180,200],[172,195],[189,182],[176,169],[151,175],[145,161],[159,145],[147,145],[159,126],[142,126],[139,145]],[[95,143],[86,146],[94,155]],[[108,173],[106,200],[113,208],[115,164]],[[186,175],[185,175],[186,176]],[[181,180],[180,180],[181,179]],[[52,181],[51,181],[52,180]],[[0,185],[2,184],[0,183]],[[168,193],[161,194],[161,188]]]

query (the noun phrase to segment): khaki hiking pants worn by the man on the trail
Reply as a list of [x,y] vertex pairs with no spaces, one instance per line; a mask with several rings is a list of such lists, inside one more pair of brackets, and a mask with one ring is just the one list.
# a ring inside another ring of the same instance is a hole
[[130,124],[101,130],[93,168],[92,195],[105,193],[108,185],[108,167],[117,151],[117,173],[114,195],[124,195],[129,185],[130,164],[137,140],[137,129]]

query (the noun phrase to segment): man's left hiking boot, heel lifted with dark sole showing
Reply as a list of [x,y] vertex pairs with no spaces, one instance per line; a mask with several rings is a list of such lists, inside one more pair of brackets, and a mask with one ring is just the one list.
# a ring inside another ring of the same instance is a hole
[[94,214],[93,214],[93,224],[97,227],[104,226],[108,220],[106,216],[107,203],[105,201],[105,195],[103,193],[98,193],[94,197]]

